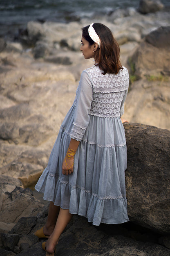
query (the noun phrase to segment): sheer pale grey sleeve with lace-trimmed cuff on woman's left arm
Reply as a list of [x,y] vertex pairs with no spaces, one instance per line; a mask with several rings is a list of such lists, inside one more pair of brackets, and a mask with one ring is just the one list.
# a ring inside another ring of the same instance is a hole
[[92,82],[86,71],[81,74],[78,85],[77,104],[75,109],[74,123],[70,136],[72,139],[81,141],[89,124],[89,111],[93,100]]

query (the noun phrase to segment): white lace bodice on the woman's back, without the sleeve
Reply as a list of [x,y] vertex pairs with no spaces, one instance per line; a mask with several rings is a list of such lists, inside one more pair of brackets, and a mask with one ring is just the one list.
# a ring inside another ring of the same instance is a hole
[[[93,101],[89,114],[98,117],[119,117],[121,103],[129,86],[128,70],[123,67],[117,75],[102,74],[98,66],[86,70],[92,82]],[[77,103],[78,89],[74,105]],[[123,107],[123,106],[122,106]]]

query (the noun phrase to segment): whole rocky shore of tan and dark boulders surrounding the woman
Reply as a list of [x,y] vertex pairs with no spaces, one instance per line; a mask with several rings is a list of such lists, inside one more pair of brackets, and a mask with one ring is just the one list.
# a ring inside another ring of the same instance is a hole
[[140,8],[67,24],[30,21],[17,41],[0,39],[0,255],[45,255],[34,232],[45,224],[48,203],[32,189],[81,72],[93,65],[79,51],[81,27],[92,22],[110,27],[130,73],[123,115],[130,122],[130,223],[95,227],[74,216],[57,255],[170,255],[170,10]]

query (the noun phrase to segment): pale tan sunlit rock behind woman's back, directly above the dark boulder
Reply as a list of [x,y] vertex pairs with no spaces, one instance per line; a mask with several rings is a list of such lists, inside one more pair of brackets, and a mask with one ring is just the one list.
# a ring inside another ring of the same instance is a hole
[[170,130],[170,86],[165,78],[157,74],[133,82],[125,101],[123,118],[132,123]]

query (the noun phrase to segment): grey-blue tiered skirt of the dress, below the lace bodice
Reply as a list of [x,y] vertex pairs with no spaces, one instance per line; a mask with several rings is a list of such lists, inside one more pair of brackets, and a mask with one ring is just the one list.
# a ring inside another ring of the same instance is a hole
[[126,141],[120,117],[90,115],[89,125],[74,157],[73,174],[62,174],[75,106],[67,113],[51,151],[49,162],[35,189],[44,199],[87,217],[89,222],[127,222],[125,197]]

